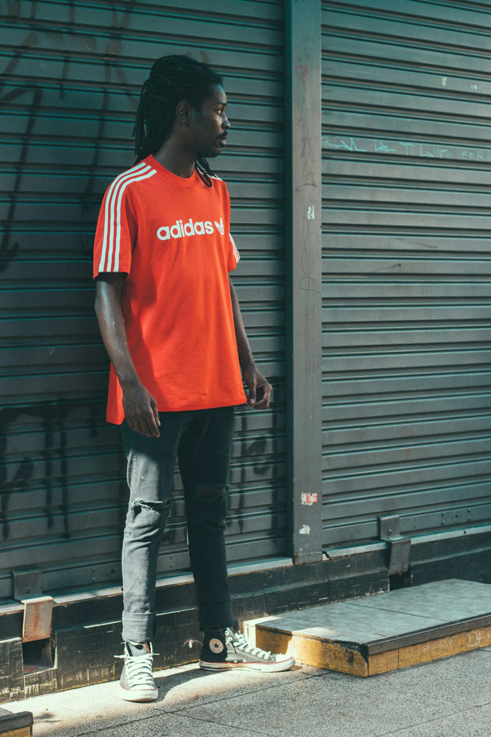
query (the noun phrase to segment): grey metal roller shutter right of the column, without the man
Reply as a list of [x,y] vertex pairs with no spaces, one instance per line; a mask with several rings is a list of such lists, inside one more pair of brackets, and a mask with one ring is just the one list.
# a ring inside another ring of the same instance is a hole
[[323,543],[483,523],[490,8],[322,8]]

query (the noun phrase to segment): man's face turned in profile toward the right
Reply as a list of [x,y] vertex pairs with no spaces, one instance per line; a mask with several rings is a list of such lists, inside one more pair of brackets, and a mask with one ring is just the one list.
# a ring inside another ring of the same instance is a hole
[[203,100],[199,110],[191,108],[190,144],[197,158],[213,158],[225,148],[230,128],[226,107],[227,95],[218,85],[211,88],[211,96]]

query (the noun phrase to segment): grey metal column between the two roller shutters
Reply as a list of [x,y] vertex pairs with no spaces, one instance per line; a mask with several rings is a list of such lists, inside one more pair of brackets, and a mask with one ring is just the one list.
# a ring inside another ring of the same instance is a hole
[[322,559],[320,0],[286,2],[286,393],[292,558]]

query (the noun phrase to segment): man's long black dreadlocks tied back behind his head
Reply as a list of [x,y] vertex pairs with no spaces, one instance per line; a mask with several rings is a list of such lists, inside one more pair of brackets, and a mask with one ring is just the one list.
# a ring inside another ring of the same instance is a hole
[[[149,79],[141,88],[136,111],[133,130],[136,164],[149,154],[156,153],[169,137],[177,103],[185,99],[198,110],[210,94],[212,85],[223,85],[222,77],[201,61],[170,55],[155,62]],[[210,176],[213,176],[213,172],[208,161],[199,157],[196,169],[202,181],[211,186]]]

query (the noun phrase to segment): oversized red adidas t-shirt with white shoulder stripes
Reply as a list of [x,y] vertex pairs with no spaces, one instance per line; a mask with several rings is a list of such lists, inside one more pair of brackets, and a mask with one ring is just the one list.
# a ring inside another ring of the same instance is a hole
[[[93,276],[127,273],[123,315],[141,383],[159,412],[246,401],[228,272],[239,253],[230,235],[227,186],[197,172],[178,177],[148,156],[123,172],[102,201]],[[124,420],[110,368],[107,421]]]

